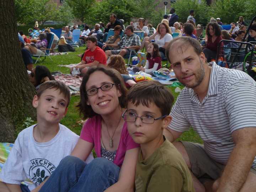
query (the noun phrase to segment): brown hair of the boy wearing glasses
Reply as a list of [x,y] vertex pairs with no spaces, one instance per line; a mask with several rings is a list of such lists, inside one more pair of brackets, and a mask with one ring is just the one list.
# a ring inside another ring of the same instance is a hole
[[135,106],[140,103],[149,106],[149,103],[155,103],[160,109],[162,115],[169,115],[171,112],[174,97],[170,90],[155,80],[142,81],[133,85],[128,91],[127,103],[132,102]]

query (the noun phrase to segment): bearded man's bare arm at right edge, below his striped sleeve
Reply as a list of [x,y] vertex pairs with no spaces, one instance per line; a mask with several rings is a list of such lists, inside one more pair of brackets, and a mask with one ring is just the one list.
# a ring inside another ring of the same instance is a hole
[[238,192],[246,181],[256,156],[256,127],[235,130],[232,137],[235,147],[220,177],[218,192]]

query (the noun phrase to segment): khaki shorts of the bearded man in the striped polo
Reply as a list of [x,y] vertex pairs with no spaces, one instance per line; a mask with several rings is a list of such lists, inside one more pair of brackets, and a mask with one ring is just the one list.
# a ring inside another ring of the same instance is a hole
[[[225,165],[211,159],[204,150],[204,146],[198,143],[181,142],[190,159],[191,171],[201,183],[207,180],[217,180],[225,168]],[[256,174],[256,167],[251,167],[251,172]]]

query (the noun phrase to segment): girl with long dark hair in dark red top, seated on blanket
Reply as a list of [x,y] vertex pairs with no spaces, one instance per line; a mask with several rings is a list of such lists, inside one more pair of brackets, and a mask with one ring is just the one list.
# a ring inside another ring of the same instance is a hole
[[152,74],[153,71],[157,71],[162,68],[161,60],[158,45],[156,43],[150,43],[146,55],[146,65],[144,67],[141,66],[139,70]]

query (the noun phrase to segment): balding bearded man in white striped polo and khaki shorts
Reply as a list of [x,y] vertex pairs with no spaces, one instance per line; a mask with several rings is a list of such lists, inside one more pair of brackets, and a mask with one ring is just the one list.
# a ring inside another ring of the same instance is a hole
[[[191,170],[196,191],[256,191],[256,82],[246,73],[212,67],[191,37],[166,48],[181,91],[164,130]],[[193,127],[204,145],[175,142]]]

